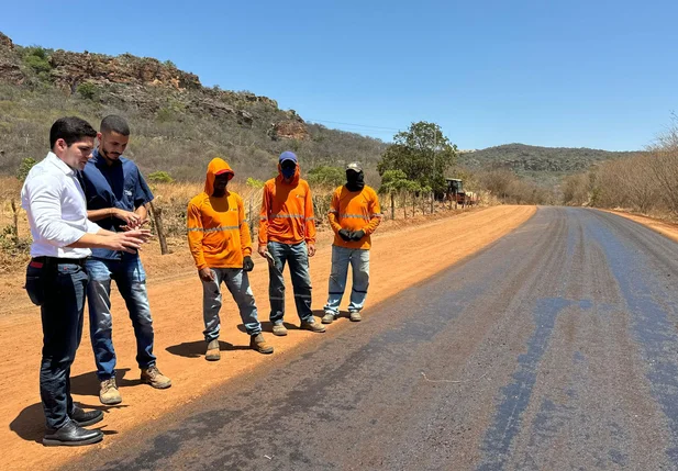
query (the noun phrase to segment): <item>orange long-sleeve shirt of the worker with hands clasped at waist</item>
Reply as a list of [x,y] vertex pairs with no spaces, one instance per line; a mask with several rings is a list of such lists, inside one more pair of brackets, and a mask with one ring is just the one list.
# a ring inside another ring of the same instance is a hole
[[[381,222],[381,208],[377,192],[367,186],[362,191],[348,191],[346,187],[337,188],[332,195],[327,218],[334,231],[333,245],[369,250],[370,234]],[[365,231],[365,236],[357,242],[346,242],[338,235],[341,229],[352,232],[362,229]]]

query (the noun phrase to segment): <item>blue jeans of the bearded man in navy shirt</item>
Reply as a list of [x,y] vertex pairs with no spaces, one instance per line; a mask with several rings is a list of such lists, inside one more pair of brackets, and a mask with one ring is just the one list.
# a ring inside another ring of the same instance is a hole
[[90,258],[87,260],[90,283],[87,288],[89,304],[89,334],[97,362],[99,381],[115,377],[113,348],[113,317],[111,316],[111,280],[125,301],[134,336],[138,368],[155,365],[153,355],[153,319],[146,293],[146,272],[138,257],[123,260]]

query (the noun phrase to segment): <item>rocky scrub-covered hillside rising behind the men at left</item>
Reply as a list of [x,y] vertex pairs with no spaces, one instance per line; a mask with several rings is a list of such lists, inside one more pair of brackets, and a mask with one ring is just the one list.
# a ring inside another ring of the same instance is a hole
[[25,157],[41,158],[56,117],[77,114],[96,125],[109,113],[130,120],[129,155],[143,170],[180,179],[202,178],[216,155],[240,175],[267,178],[289,148],[307,169],[348,160],[374,169],[385,148],[305,123],[267,97],[203,87],[170,61],[22,47],[0,33],[0,173],[13,173]]

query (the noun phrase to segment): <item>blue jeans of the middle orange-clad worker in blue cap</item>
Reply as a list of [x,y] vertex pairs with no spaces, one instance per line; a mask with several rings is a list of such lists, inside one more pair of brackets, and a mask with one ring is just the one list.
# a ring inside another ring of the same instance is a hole
[[268,251],[275,263],[268,266],[268,299],[270,301],[270,322],[282,323],[285,316],[285,278],[282,270],[289,262],[297,314],[302,322],[313,322],[311,311],[311,276],[309,274],[309,253],[304,242],[300,244],[268,243]]

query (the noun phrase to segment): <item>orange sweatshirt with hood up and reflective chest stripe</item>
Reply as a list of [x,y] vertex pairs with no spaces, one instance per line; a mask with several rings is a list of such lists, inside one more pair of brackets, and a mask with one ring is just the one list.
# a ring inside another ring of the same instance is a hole
[[212,159],[204,191],[188,203],[188,246],[199,270],[243,268],[243,257],[252,255],[252,237],[241,197],[227,187],[223,197],[212,197],[214,177],[222,172],[234,175],[224,160]]

